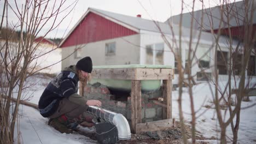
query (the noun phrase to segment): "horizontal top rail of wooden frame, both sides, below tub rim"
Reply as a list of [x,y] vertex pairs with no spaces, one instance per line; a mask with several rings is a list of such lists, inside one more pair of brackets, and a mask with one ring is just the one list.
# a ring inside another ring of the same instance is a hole
[[172,80],[173,69],[164,69],[164,68],[94,69],[92,70],[91,75],[94,79]]

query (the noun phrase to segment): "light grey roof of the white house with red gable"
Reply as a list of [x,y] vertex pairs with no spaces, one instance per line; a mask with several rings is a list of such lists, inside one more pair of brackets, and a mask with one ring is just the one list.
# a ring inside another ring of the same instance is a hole
[[[178,38],[179,35],[179,25],[176,24],[168,24],[167,22],[158,22],[158,21],[153,21],[153,20],[147,20],[143,19],[141,17],[133,17],[133,16],[127,16],[123,14],[117,14],[117,13],[112,13],[110,11],[105,11],[105,10],[100,10],[100,9],[95,9],[95,8],[88,8],[86,13],[80,18],[80,20],[76,23],[76,25],[69,31],[69,33],[66,35],[65,39],[62,40],[61,44],[69,37],[69,35],[74,31],[74,29],[79,25],[80,22],[84,20],[86,15],[88,13],[95,13],[98,15],[101,15],[105,17],[106,19],[109,19],[111,21],[117,22],[120,25],[130,28],[133,31],[139,32],[139,30],[144,30],[144,31],[149,31],[149,32],[156,32],[156,33],[164,33],[164,34],[170,34],[170,35],[175,35],[176,38]],[[161,31],[159,30],[161,29]],[[171,31],[172,29],[172,31]],[[197,29],[193,30],[193,39],[198,39],[200,31]],[[182,37],[183,38],[189,38],[190,37],[190,28],[182,27]],[[222,37],[222,36],[220,36]],[[205,40],[205,41],[214,41],[213,34],[208,33],[208,32],[201,32],[201,38],[200,40]],[[219,39],[219,43],[226,43],[226,40],[224,37]]]

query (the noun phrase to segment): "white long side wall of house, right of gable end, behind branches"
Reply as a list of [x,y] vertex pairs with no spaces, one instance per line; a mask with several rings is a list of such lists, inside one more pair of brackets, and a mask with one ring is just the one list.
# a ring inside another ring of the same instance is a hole
[[[140,64],[148,64],[147,63],[147,52],[146,52],[146,47],[147,45],[154,45],[158,43],[164,43],[164,40],[162,39],[161,35],[159,33],[154,33],[154,32],[148,32],[148,31],[141,31],[141,54],[140,54]],[[177,48],[176,45],[172,43],[172,35],[166,35],[168,38],[169,43],[173,46],[174,49]],[[222,38],[222,41],[225,40],[225,38]],[[236,42],[233,42],[233,47],[236,47]],[[195,49],[197,45],[197,41],[193,41],[192,47]],[[221,47],[222,51],[229,51],[228,44],[225,43],[219,43],[219,47]],[[182,65],[185,67],[185,56],[188,55],[188,50],[189,50],[189,39],[188,38],[183,38],[182,39]],[[196,52],[196,58],[199,59],[201,56],[199,55],[199,51],[210,51],[205,55],[205,58],[207,57],[208,61],[210,62],[210,68],[205,68],[206,73],[210,73],[213,78],[213,72],[214,72],[214,53],[216,49],[216,45],[213,44],[212,41],[206,41],[206,40],[200,40],[200,43],[197,46],[197,52]],[[154,53],[154,52],[153,52]],[[192,55],[190,55],[192,56]],[[153,55],[153,62],[152,64],[155,64],[155,59],[156,56]],[[171,49],[168,47],[167,44],[164,44],[164,65],[171,65],[173,68],[175,67],[174,65],[175,59],[174,59],[174,54],[172,53]],[[194,58],[193,62],[194,64],[193,68],[191,69],[191,74],[196,75],[197,72],[201,71],[201,68],[199,67],[199,64],[197,64],[197,60]],[[246,76],[247,76],[247,71],[246,71]],[[184,75],[184,77],[187,77],[187,75]],[[238,76],[236,76],[238,77]],[[256,78],[256,76],[252,76],[253,79]],[[221,81],[226,81],[228,80],[228,75],[219,75],[219,80]],[[201,82],[204,80],[198,80],[195,79],[196,82]],[[174,75],[174,80],[173,84],[176,85],[178,83],[178,75]]]

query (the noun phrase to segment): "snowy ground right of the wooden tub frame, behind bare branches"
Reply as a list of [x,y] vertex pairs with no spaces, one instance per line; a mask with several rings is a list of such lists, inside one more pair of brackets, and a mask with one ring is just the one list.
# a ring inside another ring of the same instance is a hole
[[[213,85],[211,85],[214,88]],[[189,94],[186,91],[187,89],[184,88],[184,93],[182,96],[182,105],[183,105],[183,112],[186,121],[191,121],[191,110],[190,110],[190,98]],[[214,89],[213,89],[214,91]],[[200,85],[196,85],[193,87],[193,94],[194,94],[194,105],[195,111],[199,110],[196,113],[196,116],[202,115],[197,118],[196,121],[196,130],[200,131],[203,136],[206,138],[220,137],[219,133],[216,131],[220,131],[218,127],[218,120],[217,115],[214,109],[207,109],[204,107],[205,105],[211,105],[210,101],[212,101],[212,94],[210,90],[210,86],[208,83],[201,83]],[[256,95],[255,95],[256,96]],[[173,98],[173,117],[179,119],[178,113],[178,91],[172,92]],[[242,101],[241,107],[250,106],[256,103],[256,97],[250,97],[251,101]],[[212,106],[213,107],[213,106]],[[234,107],[232,107],[234,109]],[[224,110],[223,116],[224,116]],[[226,113],[226,118],[229,117],[229,112]],[[234,118],[235,123],[235,118]],[[232,130],[229,125],[226,135],[232,139]],[[240,143],[255,143],[256,140],[256,106],[249,107],[248,109],[241,110],[240,114],[240,129],[238,130],[238,142]],[[227,139],[229,141],[229,139]],[[217,141],[216,141],[217,142]]]

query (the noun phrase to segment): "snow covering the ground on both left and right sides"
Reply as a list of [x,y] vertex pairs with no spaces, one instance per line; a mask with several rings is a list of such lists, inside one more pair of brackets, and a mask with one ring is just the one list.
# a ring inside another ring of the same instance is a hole
[[[47,50],[49,49],[45,49],[45,51]],[[45,55],[44,57],[40,58],[38,60],[38,63],[40,64],[40,67],[45,67],[57,61],[60,61],[60,59],[61,50],[55,50],[54,52],[51,52],[48,55]],[[42,72],[59,73],[60,70],[61,63],[58,63],[57,65],[54,65],[53,67],[48,68]],[[30,77],[26,81],[27,85],[34,84],[35,86],[27,89],[24,92],[25,97],[23,98],[29,99],[31,103],[38,104],[40,95],[43,93],[44,88],[49,83],[49,81],[49,77],[43,77],[38,75]],[[211,85],[211,87],[214,88],[213,85]],[[201,108],[196,115],[199,116],[202,113],[202,115],[199,118],[197,118],[196,129],[207,138],[210,138],[212,136],[219,137],[219,133],[216,132],[219,130],[216,113],[214,113],[213,109],[206,109],[206,107],[202,106],[211,105],[210,101],[212,101],[212,94],[209,85],[207,83],[201,83],[200,85],[196,85],[193,87],[193,92],[195,110],[197,111]],[[178,121],[178,91],[173,91],[172,97],[173,117],[176,118]],[[243,101],[242,107],[246,107],[256,103],[256,97],[250,97],[250,99],[251,101],[248,102]],[[189,122],[191,120],[191,115],[189,114],[190,101],[188,90],[186,88],[183,89],[182,103],[185,121]],[[49,127],[49,125],[47,124],[48,118],[42,117],[37,110],[31,107],[20,105],[19,114],[19,124],[22,143],[97,143],[96,141],[93,141],[88,137],[82,135],[61,134],[54,128]],[[228,137],[231,138],[232,131],[230,128],[228,128],[226,134],[228,135]],[[255,143],[255,135],[256,106],[241,111],[238,140],[240,143]],[[218,143],[218,141],[216,140],[206,140],[206,142]]]

